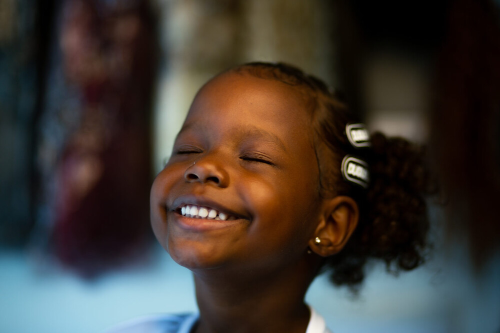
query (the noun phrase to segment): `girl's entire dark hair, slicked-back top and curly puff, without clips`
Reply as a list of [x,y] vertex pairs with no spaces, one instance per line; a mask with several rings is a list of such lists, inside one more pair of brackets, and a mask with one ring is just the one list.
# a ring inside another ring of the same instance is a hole
[[[353,147],[345,126],[357,121],[341,96],[294,66],[251,62],[232,70],[279,80],[307,96],[320,171],[320,195],[348,195],[359,206],[360,218],[354,233],[342,251],[325,260],[321,272],[329,272],[334,285],[357,291],[370,260],[381,260],[393,273],[422,264],[430,247],[425,195],[436,190],[435,179],[426,167],[425,148],[379,132],[371,135],[371,148]],[[347,154],[368,162],[368,189],[342,178],[340,165]]]

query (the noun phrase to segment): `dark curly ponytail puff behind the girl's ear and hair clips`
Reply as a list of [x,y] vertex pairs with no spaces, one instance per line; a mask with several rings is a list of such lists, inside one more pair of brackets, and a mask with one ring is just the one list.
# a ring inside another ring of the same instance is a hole
[[356,291],[367,261],[381,260],[388,271],[409,271],[425,260],[429,222],[425,195],[436,192],[425,149],[402,138],[371,135],[371,183],[365,212],[345,248],[330,258],[335,285]]

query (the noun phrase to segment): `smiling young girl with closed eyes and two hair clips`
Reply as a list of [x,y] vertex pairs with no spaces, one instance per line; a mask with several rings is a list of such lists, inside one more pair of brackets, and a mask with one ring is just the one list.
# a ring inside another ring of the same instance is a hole
[[330,332],[303,301],[318,273],[355,288],[370,259],[422,263],[422,161],[403,139],[370,140],[297,68],[219,74],[194,98],[150,198],[156,238],[194,275],[199,315],[119,332]]

